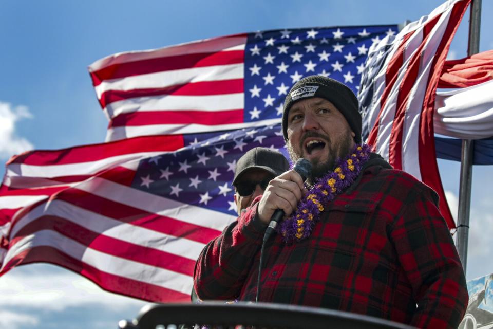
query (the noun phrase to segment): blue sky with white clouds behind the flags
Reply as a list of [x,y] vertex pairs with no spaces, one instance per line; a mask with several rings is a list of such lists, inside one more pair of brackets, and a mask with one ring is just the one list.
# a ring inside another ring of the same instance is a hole
[[[159,48],[265,29],[398,24],[428,14],[442,0],[401,1],[4,1],[0,4],[0,161],[27,149],[104,141],[107,121],[87,66],[109,54]],[[493,2],[483,1],[480,51],[493,49]],[[467,52],[468,13],[450,58]],[[489,34],[489,35],[488,35]],[[439,161],[457,209],[460,164]],[[475,166],[467,278],[493,272],[493,167]],[[4,174],[4,169],[0,169]],[[109,294],[70,271],[46,264],[0,277],[0,327],[106,328],[145,303]]]

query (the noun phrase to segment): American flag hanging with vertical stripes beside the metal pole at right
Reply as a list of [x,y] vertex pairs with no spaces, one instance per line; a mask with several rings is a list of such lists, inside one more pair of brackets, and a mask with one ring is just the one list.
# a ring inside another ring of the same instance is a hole
[[449,0],[371,47],[359,90],[363,140],[438,192],[440,210],[455,228],[438,171],[434,100],[453,34],[470,0]]

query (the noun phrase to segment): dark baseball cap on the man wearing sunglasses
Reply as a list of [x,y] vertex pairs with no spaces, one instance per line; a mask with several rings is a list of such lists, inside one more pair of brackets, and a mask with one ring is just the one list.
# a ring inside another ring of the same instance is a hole
[[263,169],[276,177],[289,170],[289,162],[280,152],[261,147],[253,148],[236,162],[233,186],[241,175],[252,169]]

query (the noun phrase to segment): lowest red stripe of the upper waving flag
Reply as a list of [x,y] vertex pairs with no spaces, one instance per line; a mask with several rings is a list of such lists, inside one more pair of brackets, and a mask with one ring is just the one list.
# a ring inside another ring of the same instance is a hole
[[243,122],[243,109],[226,111],[144,111],[122,113],[111,119],[108,127],[148,124],[231,124]]

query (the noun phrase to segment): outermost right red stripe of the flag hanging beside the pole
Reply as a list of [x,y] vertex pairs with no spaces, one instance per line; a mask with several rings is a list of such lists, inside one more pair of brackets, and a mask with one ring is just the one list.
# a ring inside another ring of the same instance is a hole
[[[421,138],[418,139],[418,148],[420,153],[419,163],[422,181],[438,193],[440,212],[444,216],[450,229],[456,228],[456,223],[454,222],[452,213],[450,212],[450,208],[445,197],[445,191],[443,190],[442,180],[440,178],[434,142],[433,111],[436,90],[443,65],[445,64],[447,51],[450,47],[453,35],[459,28],[459,24],[456,22],[460,22],[462,20],[469,3],[470,0],[459,2],[454,5],[450,13],[449,24],[444,32],[444,38],[440,42],[438,48],[439,50],[437,51],[440,56],[435,56],[433,58],[431,74],[428,79],[428,88],[423,101],[423,111],[420,118]],[[452,22],[452,24],[450,22]]]

